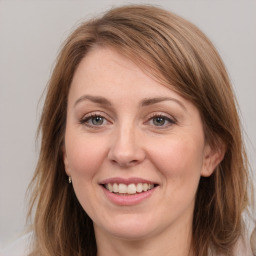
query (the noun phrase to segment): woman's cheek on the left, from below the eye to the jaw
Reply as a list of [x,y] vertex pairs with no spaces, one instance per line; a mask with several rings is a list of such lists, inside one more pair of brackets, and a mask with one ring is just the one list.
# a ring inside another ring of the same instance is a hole
[[104,140],[84,134],[67,133],[65,137],[69,172],[75,194],[89,216],[93,216],[97,211],[94,208],[93,188],[105,157],[106,150],[103,144]]

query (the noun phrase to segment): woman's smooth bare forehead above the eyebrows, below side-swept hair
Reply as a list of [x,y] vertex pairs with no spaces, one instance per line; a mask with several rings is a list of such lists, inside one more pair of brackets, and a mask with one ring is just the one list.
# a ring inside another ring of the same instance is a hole
[[[82,59],[74,74],[70,94],[82,91],[113,94],[150,91],[157,95],[175,93],[154,79],[145,68],[109,47],[95,47]],[[128,95],[128,94],[127,94]],[[146,95],[145,95],[146,96]],[[178,96],[177,97],[181,97]]]

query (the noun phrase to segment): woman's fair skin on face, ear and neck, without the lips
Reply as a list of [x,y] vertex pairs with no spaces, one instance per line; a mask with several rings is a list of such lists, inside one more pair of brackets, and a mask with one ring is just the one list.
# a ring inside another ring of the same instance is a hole
[[[221,155],[206,143],[198,109],[170,88],[107,47],[92,49],[74,74],[63,158],[93,220],[99,256],[191,255],[199,179],[212,174]],[[162,116],[161,125],[155,115]],[[97,122],[95,116],[103,119]],[[120,206],[99,184],[112,177],[139,177],[158,187],[139,204]]]

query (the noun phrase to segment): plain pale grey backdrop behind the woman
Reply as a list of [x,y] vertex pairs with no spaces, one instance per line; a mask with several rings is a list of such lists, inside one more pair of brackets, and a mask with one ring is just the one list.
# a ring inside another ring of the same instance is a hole
[[212,40],[233,82],[255,172],[255,0],[0,0],[0,247],[25,227],[25,192],[38,157],[39,100],[61,43],[81,21],[129,3],[173,11]]

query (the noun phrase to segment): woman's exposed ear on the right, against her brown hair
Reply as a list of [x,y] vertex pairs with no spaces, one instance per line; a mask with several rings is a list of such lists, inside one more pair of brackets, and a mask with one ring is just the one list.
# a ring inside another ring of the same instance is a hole
[[214,172],[215,168],[223,160],[226,153],[226,147],[224,143],[218,143],[218,146],[211,147],[208,143],[204,148],[204,159],[201,170],[201,176],[209,177]]

